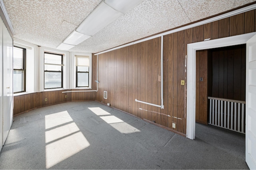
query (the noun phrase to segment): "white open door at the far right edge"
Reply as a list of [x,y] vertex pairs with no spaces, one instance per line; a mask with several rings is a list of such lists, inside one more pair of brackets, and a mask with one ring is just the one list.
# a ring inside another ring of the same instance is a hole
[[246,43],[246,163],[256,169],[256,35]]

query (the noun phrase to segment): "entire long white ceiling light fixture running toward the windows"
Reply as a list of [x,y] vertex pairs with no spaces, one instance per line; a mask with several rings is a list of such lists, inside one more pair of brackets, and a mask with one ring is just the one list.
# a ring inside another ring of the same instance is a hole
[[68,51],[140,4],[143,0],[104,0],[57,49]]

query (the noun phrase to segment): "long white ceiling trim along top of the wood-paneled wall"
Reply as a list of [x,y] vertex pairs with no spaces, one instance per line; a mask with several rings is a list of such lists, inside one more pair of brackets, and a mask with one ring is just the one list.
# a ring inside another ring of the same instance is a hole
[[131,43],[128,43],[128,44],[124,44],[124,45],[118,46],[118,47],[114,47],[112,49],[108,49],[108,50],[102,51],[100,53],[96,53],[94,55],[100,55],[100,54],[103,54],[103,53],[107,53],[109,51],[113,51],[113,50],[116,50],[116,49],[120,49],[120,48],[123,48],[123,47],[127,47],[127,46],[130,46],[130,45],[133,45],[133,44],[137,44],[137,43],[141,43],[141,42],[144,42],[144,41],[148,41],[150,39],[154,39],[154,38],[157,38],[157,37],[161,37],[163,35],[168,35],[168,34],[171,34],[171,33],[175,33],[175,32],[178,32],[178,31],[185,30],[185,29],[189,29],[189,28],[196,27],[196,26],[199,26],[199,25],[203,25],[203,24],[206,24],[206,23],[210,23],[210,22],[213,22],[213,21],[217,21],[217,20],[221,20],[221,19],[224,19],[224,18],[228,18],[228,17],[234,16],[234,15],[241,14],[241,13],[244,13],[244,12],[247,12],[247,11],[250,11],[250,10],[255,10],[255,9],[256,9],[256,4],[252,4],[250,6],[246,6],[244,8],[240,8],[238,10],[234,10],[234,11],[228,12],[226,14],[222,14],[220,16],[209,18],[207,20],[203,20],[203,21],[196,22],[196,23],[193,23],[193,24],[190,24],[190,25],[186,25],[184,27],[173,29],[171,31],[160,33],[160,34],[154,35],[152,37],[148,37],[148,38],[141,39],[141,40],[138,40],[138,41],[134,41],[134,42],[131,42]]

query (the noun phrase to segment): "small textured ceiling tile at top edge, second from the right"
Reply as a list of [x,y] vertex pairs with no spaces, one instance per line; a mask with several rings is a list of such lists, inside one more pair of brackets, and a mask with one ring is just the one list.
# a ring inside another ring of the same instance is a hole
[[231,10],[234,2],[235,0],[207,0],[210,16]]

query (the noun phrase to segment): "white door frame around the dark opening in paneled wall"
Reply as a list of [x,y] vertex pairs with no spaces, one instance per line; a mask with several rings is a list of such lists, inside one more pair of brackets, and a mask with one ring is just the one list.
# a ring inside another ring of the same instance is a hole
[[246,44],[246,41],[254,35],[256,32],[188,44],[187,138],[195,139],[196,137],[196,51]]

